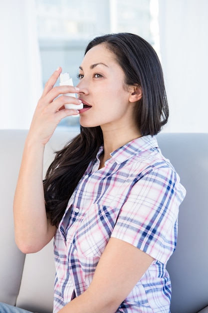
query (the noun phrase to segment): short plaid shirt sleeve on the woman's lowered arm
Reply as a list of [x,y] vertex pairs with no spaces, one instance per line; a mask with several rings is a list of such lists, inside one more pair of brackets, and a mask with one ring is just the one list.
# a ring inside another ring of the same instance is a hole
[[167,263],[176,248],[183,193],[184,187],[172,167],[150,168],[131,188],[111,236]]

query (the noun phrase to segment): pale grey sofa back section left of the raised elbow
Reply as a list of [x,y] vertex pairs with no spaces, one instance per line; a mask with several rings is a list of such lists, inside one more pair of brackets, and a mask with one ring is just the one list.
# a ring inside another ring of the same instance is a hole
[[15,304],[25,255],[14,242],[12,203],[25,132],[0,130],[0,301]]

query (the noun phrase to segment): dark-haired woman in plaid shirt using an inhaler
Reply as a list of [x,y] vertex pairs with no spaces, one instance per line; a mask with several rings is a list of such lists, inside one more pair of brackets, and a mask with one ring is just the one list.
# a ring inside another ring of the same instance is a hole
[[[36,252],[54,236],[54,313],[169,312],[166,263],[185,189],[155,137],[169,115],[157,54],[138,35],[108,34],[88,44],[76,88],[54,87],[60,73],[46,83],[25,142],[17,245]],[[79,111],[64,108],[80,102]],[[80,134],[42,184],[46,142],[78,113]]]

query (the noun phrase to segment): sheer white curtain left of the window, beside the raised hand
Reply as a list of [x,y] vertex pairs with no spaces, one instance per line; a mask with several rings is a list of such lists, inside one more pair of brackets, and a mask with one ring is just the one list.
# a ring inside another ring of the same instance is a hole
[[0,1],[0,128],[29,127],[42,92],[35,0]]

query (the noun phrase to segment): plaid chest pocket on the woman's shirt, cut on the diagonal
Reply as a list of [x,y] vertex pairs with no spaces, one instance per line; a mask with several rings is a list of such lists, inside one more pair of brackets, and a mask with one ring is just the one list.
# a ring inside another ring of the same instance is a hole
[[74,234],[74,248],[84,256],[101,256],[118,214],[119,208],[93,204]]

